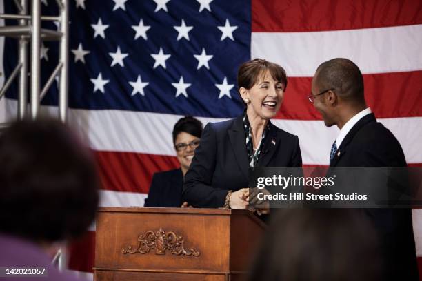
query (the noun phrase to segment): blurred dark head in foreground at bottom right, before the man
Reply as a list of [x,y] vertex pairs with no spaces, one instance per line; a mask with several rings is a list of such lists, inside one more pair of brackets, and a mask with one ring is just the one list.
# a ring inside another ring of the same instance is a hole
[[379,241],[352,209],[285,209],[275,214],[250,281],[382,280]]

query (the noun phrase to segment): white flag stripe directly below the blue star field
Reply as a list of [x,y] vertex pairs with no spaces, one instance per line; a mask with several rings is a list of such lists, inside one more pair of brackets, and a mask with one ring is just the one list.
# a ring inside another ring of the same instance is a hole
[[[8,110],[16,111],[17,102],[7,99]],[[57,107],[41,107],[56,114]],[[16,113],[9,112],[8,114]],[[99,151],[135,152],[175,156],[172,145],[174,123],[178,115],[121,110],[69,110],[69,122],[86,137],[90,147]],[[208,122],[223,121],[218,118],[199,118]],[[379,118],[399,140],[408,163],[422,163],[419,147],[422,139],[422,117]],[[308,165],[328,165],[330,147],[339,129],[325,127],[323,121],[273,119],[272,123],[291,134],[299,136],[302,160]]]

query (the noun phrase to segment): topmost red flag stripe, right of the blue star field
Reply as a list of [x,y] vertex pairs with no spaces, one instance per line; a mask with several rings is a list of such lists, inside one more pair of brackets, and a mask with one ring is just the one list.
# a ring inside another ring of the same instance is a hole
[[309,32],[422,23],[418,0],[252,0],[252,32]]

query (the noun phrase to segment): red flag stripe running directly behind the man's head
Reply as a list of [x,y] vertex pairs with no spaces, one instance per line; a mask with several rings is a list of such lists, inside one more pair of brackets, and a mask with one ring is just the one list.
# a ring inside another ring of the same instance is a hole
[[[422,116],[422,71],[363,75],[365,100],[377,118]],[[321,120],[308,101],[312,78],[290,77],[276,118]]]

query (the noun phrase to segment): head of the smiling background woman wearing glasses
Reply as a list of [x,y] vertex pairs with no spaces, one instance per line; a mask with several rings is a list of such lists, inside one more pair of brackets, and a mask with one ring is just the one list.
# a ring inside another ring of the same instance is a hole
[[194,149],[199,145],[202,130],[201,121],[192,116],[180,118],[174,125],[172,133],[173,144],[183,175],[188,171],[192,163]]

